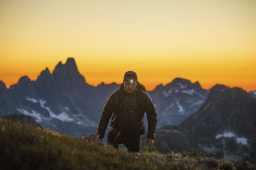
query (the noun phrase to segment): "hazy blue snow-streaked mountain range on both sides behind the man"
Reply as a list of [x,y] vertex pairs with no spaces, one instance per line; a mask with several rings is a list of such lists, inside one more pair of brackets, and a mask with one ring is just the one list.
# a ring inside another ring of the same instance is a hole
[[[95,133],[106,99],[119,86],[89,85],[74,58],[68,58],[65,64],[59,62],[52,73],[46,67],[35,81],[23,76],[9,89],[0,81],[0,116],[22,113],[54,131],[63,129],[74,136]],[[182,78],[147,92],[156,106],[157,127],[179,125],[202,106],[209,94],[198,81],[191,83]]]

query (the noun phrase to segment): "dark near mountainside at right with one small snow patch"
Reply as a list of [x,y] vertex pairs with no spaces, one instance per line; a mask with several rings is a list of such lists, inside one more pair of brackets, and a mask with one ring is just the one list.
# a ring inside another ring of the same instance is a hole
[[215,85],[195,114],[178,127],[157,131],[156,145],[162,152],[196,148],[224,159],[256,162],[255,139],[256,99],[240,88]]

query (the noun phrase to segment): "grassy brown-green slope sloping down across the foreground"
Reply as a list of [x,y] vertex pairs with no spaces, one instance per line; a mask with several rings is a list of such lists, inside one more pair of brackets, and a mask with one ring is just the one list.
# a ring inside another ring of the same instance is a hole
[[204,153],[131,153],[88,139],[0,119],[0,169],[253,169]]

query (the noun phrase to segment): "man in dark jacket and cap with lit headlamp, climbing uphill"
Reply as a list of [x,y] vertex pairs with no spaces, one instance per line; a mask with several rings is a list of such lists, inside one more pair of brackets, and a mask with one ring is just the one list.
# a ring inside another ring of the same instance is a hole
[[140,136],[145,132],[143,117],[147,114],[147,146],[153,146],[156,138],[157,113],[151,97],[138,81],[137,74],[127,71],[120,89],[115,90],[106,101],[100,115],[97,138],[104,138],[109,119],[108,145],[118,148],[124,143],[131,152],[140,152]]

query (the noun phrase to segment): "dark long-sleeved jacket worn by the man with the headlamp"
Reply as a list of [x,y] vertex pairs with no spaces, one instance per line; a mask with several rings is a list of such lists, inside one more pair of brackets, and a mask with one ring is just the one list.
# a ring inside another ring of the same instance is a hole
[[124,85],[120,85],[120,89],[115,90],[106,101],[104,108],[100,115],[98,123],[97,134],[100,138],[104,138],[106,128],[108,126],[109,119],[111,118],[112,127],[124,127],[125,129],[131,129],[131,131],[144,133],[143,117],[146,112],[148,119],[148,138],[156,138],[156,124],[157,113],[152,103],[151,97],[143,90],[137,88],[134,92],[137,101],[137,108],[131,108],[127,110],[124,107],[124,96],[127,92],[124,90]]

